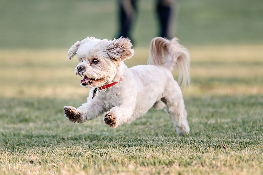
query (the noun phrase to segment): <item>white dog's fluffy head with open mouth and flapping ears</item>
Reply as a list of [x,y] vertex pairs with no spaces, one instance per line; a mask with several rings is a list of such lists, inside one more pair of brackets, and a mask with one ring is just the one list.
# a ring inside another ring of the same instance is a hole
[[81,85],[87,88],[112,83],[120,63],[131,58],[134,50],[129,38],[108,41],[87,37],[77,41],[68,51],[68,59],[78,55],[75,74],[84,76]]

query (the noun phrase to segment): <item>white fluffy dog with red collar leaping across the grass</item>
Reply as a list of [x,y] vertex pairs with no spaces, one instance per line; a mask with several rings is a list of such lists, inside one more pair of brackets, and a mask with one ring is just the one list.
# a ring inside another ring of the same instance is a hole
[[75,74],[84,76],[81,85],[91,90],[87,103],[79,108],[65,106],[65,116],[71,122],[83,123],[104,113],[105,124],[116,128],[131,123],[151,107],[165,107],[177,133],[188,134],[182,92],[172,71],[178,67],[179,81],[183,86],[190,83],[189,52],[177,38],[153,38],[148,60],[151,65],[128,68],[123,61],[134,55],[131,47],[129,38],[108,41],[87,37],[69,49],[70,60],[78,55]]

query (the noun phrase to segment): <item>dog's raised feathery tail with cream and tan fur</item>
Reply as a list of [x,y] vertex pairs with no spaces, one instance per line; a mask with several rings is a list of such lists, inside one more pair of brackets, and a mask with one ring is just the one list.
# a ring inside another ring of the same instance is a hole
[[190,53],[184,46],[179,44],[178,38],[173,38],[172,40],[162,37],[153,38],[147,63],[166,67],[170,71],[178,67],[178,83],[181,82],[182,88],[185,88],[186,83],[190,86],[190,61]]

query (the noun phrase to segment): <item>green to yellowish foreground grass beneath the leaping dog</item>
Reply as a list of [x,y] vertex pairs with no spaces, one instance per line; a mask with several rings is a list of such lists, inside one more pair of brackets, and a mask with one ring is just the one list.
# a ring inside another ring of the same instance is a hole
[[79,105],[78,99],[2,99],[0,160],[7,168],[53,163],[58,174],[262,172],[262,96],[189,97],[185,103],[191,133],[183,137],[161,111],[111,129],[101,118],[68,122],[61,108]]

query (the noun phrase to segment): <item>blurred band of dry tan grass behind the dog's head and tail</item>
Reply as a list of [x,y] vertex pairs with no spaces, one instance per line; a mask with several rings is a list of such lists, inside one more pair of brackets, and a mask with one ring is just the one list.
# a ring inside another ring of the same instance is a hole
[[[263,94],[261,84],[232,83],[207,86],[199,79],[255,79],[263,75],[263,46],[197,46],[191,53],[191,89],[187,94]],[[148,50],[135,48],[128,67],[146,64]],[[74,75],[77,59],[67,60],[67,50],[1,50],[1,92],[4,97],[72,97],[87,94]],[[175,72],[175,77],[177,76]]]

